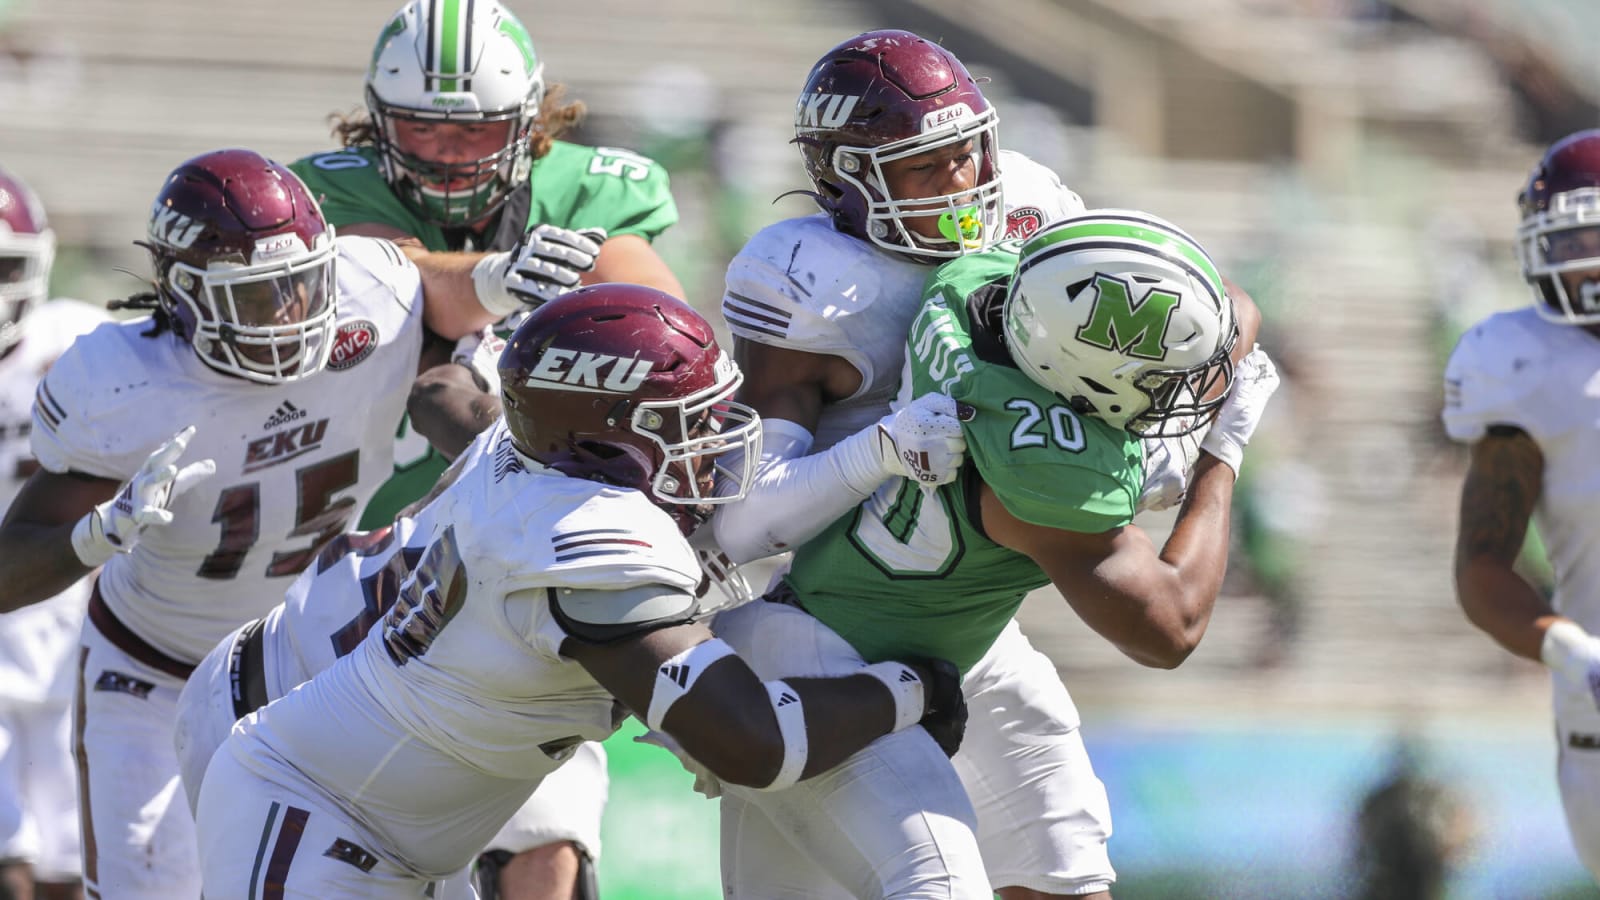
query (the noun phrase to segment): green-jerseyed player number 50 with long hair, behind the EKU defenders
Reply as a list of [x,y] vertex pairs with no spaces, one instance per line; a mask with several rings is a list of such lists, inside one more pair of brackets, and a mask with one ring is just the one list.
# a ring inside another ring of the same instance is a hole
[[[566,101],[560,83],[546,85],[528,30],[501,3],[402,6],[378,35],[365,98],[365,115],[338,120],[341,149],[290,167],[341,234],[389,237],[419,259],[470,272],[480,298],[504,312],[581,279],[683,296],[651,248],[678,218],[666,170],[632,151],[562,139],[584,106]],[[499,346],[510,325],[470,335],[454,352],[430,344],[395,439],[395,472],[366,504],[362,528],[390,524],[499,415],[485,373],[454,360],[486,356],[482,346]],[[486,900],[565,898],[574,881],[594,894],[608,786],[605,749],[594,743],[547,778],[485,852]]]

